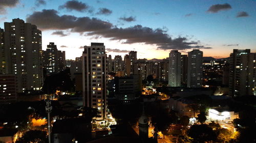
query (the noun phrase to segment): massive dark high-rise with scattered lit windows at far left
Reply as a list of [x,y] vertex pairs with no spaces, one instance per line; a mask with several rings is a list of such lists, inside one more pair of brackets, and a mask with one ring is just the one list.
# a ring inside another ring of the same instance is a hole
[[[3,30],[1,30],[3,37]],[[40,90],[43,82],[41,31],[19,18],[5,22],[4,42],[0,53],[2,73],[15,74],[17,91]]]

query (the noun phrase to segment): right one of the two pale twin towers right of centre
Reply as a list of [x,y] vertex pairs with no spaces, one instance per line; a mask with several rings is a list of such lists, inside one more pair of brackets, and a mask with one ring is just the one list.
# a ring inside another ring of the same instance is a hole
[[194,49],[188,52],[187,59],[187,87],[200,88],[203,80],[203,52]]

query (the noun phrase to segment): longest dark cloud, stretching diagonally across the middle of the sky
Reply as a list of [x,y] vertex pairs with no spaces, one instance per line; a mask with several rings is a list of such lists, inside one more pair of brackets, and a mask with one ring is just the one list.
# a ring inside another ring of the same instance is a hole
[[[51,21],[51,22],[49,22]],[[40,30],[69,30],[86,33],[86,36],[98,36],[119,40],[125,44],[142,43],[155,45],[158,49],[210,48],[201,46],[197,41],[189,42],[187,37],[172,38],[165,28],[150,28],[142,25],[117,27],[112,23],[97,18],[58,15],[55,10],[42,10],[29,15],[26,22],[37,25]]]

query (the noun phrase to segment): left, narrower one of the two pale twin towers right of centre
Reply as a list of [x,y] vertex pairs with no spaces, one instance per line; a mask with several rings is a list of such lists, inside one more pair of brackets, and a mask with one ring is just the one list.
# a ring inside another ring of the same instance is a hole
[[181,53],[172,50],[169,53],[168,84],[170,87],[180,87],[181,83]]

